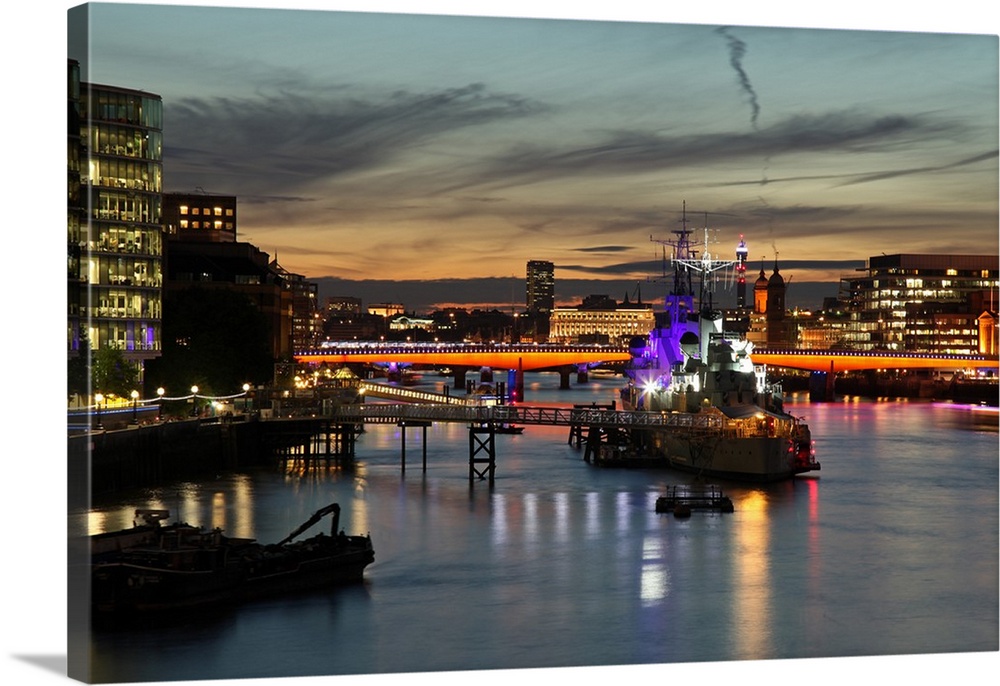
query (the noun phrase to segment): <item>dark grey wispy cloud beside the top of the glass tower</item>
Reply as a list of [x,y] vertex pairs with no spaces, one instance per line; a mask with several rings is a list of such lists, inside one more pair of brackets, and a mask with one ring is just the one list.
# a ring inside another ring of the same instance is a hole
[[[186,98],[165,103],[173,133],[164,162],[171,183],[186,187],[212,179],[241,193],[261,194],[390,166],[435,136],[541,109],[540,103],[491,92],[482,83],[381,98],[344,91],[328,97],[281,92]],[[267,188],[259,188],[261,183]]]

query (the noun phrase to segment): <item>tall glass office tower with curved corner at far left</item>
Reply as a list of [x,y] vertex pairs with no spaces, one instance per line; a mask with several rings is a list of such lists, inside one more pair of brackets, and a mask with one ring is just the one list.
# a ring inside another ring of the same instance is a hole
[[117,348],[141,378],[161,350],[163,104],[79,78],[70,60],[69,353]]

